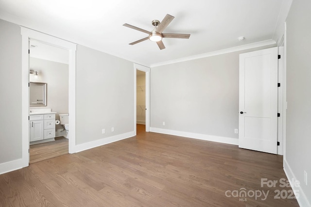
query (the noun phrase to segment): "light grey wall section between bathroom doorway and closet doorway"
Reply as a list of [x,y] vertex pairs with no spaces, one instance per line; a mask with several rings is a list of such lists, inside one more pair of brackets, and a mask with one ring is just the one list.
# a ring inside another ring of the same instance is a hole
[[76,143],[134,132],[133,63],[80,45],[76,56]]

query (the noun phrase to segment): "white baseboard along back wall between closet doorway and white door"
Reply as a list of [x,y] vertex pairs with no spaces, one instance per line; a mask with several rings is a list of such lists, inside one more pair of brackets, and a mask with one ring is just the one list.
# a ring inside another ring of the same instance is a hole
[[215,141],[215,142],[220,142],[220,143],[225,143],[225,144],[239,145],[238,138],[227,138],[227,137],[219,137],[219,136],[198,134],[198,133],[192,133],[192,132],[181,132],[181,131],[175,131],[175,130],[170,130],[170,129],[155,128],[155,127],[150,127],[150,131],[161,133],[161,134],[179,136],[179,137],[195,138],[195,139],[201,139],[201,140],[206,140],[206,141]]

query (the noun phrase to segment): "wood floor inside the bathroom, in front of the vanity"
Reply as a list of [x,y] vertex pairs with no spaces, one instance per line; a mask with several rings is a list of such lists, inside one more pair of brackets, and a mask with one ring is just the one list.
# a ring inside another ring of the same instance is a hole
[[29,163],[32,164],[42,160],[68,154],[68,139],[63,137],[55,139],[55,141],[30,145]]

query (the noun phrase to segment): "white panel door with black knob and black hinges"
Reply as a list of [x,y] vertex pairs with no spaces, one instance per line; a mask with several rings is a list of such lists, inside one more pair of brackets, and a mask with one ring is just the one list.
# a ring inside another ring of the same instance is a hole
[[239,147],[276,154],[277,47],[240,54]]

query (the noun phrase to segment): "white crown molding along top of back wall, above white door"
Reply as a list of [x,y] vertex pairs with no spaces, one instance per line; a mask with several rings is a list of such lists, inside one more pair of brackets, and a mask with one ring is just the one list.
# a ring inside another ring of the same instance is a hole
[[204,57],[210,57],[210,56],[230,53],[230,52],[237,52],[237,51],[247,50],[247,49],[251,49],[251,48],[258,48],[258,47],[262,47],[262,46],[274,45],[274,44],[276,44],[276,41],[273,39],[270,39],[270,40],[255,42],[255,43],[251,43],[251,44],[247,44],[247,45],[241,45],[238,47],[227,48],[224,50],[207,52],[207,53],[203,53],[203,54],[192,55],[189,57],[184,57],[184,58],[174,59],[174,60],[170,60],[170,61],[155,63],[155,64],[151,64],[150,68],[163,66],[163,65],[169,65],[169,64],[173,64],[173,63],[184,62],[184,61],[189,61],[189,60],[195,60],[195,59],[200,59],[200,58],[204,58]]

